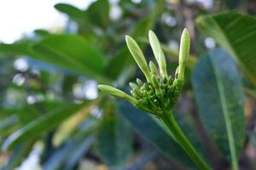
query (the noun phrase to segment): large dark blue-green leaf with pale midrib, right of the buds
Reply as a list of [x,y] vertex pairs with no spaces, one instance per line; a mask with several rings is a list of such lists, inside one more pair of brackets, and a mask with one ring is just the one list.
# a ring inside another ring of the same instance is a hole
[[193,86],[209,137],[224,156],[231,152],[238,159],[245,141],[244,100],[230,54],[218,48],[203,56],[195,66]]

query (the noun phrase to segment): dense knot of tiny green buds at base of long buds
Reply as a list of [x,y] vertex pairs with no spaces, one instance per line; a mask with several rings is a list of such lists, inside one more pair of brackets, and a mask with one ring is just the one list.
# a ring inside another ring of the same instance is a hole
[[137,99],[137,107],[157,115],[162,111],[172,110],[178,96],[178,90],[173,83],[173,78],[152,75],[151,82],[142,82],[137,78],[137,83],[130,82],[131,95]]

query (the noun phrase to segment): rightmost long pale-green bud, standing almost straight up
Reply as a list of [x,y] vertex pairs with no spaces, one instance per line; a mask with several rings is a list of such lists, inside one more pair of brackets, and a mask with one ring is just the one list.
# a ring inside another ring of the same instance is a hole
[[185,28],[183,30],[180,48],[179,48],[179,60],[178,60],[178,70],[177,70],[177,79],[184,80],[184,70],[189,58],[189,47],[190,47],[190,37],[189,31]]

